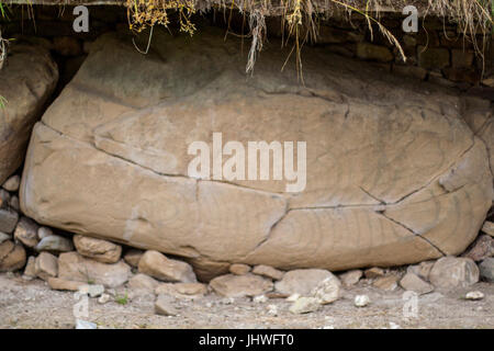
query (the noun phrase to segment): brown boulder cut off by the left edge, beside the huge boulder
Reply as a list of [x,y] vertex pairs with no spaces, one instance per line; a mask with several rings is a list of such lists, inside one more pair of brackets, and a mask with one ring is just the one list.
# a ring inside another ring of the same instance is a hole
[[0,109],[0,183],[24,160],[34,123],[55,89],[58,70],[47,49],[13,44],[1,70],[0,97],[7,100]]

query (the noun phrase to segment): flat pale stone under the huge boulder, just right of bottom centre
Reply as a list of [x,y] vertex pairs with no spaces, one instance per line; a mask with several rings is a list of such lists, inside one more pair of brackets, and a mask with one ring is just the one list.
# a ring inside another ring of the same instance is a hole
[[310,296],[317,285],[326,279],[333,279],[332,272],[318,269],[293,270],[287,272],[283,279],[274,284],[277,292]]

